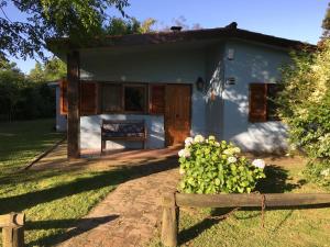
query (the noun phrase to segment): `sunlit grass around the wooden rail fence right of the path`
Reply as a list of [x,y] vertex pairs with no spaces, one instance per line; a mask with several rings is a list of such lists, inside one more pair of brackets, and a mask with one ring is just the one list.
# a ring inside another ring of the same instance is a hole
[[[293,158],[283,162],[268,159],[267,179],[258,190],[262,192],[327,192],[308,183],[302,175],[305,161]],[[329,191],[328,191],[329,192]],[[221,215],[226,210],[180,210],[179,246],[200,247],[327,247],[330,246],[330,209],[287,209],[265,213],[265,228],[261,227],[261,211],[240,210],[230,217],[217,221],[208,215]],[[160,237],[150,246],[162,246]]]

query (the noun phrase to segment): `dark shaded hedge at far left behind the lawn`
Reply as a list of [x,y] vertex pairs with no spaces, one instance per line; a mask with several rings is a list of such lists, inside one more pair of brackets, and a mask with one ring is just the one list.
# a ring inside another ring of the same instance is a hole
[[[58,59],[55,60],[58,64]],[[0,120],[25,120],[55,115],[55,91],[46,78],[55,77],[53,60],[42,75],[26,78],[13,63],[2,60],[0,68]],[[36,65],[38,68],[38,65]],[[61,68],[61,67],[59,67]],[[50,72],[51,71],[51,72]],[[56,76],[57,77],[57,76]]]

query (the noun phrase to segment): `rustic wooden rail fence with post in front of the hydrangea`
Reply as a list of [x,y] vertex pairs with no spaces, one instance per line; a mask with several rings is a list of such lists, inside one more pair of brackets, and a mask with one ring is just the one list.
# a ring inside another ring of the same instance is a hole
[[330,193],[272,193],[272,194],[182,194],[164,197],[162,243],[177,246],[178,215],[180,206],[190,207],[288,207],[329,205]]

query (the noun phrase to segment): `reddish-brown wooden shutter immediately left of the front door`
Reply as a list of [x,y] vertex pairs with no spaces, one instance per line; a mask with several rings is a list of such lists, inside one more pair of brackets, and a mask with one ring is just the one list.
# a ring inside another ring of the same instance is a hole
[[165,85],[151,86],[150,93],[150,113],[163,114],[165,112]]

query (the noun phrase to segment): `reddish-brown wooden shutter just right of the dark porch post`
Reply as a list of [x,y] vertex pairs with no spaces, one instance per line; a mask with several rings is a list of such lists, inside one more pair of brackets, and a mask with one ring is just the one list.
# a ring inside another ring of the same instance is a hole
[[80,82],[80,114],[97,114],[97,83]]

